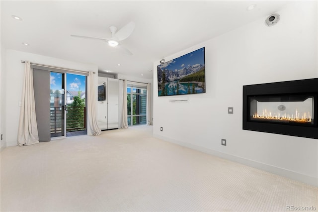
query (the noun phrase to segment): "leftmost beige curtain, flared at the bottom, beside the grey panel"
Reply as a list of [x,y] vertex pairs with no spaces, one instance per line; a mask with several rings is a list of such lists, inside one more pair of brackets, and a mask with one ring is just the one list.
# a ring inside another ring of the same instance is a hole
[[17,145],[23,146],[35,143],[39,143],[39,134],[35,115],[33,70],[31,69],[30,62],[26,61]]

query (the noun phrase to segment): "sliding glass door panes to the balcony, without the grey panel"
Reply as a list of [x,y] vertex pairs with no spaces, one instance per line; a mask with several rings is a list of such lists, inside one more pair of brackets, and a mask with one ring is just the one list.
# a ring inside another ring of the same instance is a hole
[[86,77],[51,72],[50,90],[51,137],[87,134]]

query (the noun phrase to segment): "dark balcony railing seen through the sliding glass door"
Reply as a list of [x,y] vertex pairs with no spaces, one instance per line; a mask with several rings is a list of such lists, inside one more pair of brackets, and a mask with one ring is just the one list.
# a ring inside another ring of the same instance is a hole
[[[66,131],[73,132],[86,129],[86,107],[66,106]],[[64,110],[51,106],[51,135],[63,136]]]

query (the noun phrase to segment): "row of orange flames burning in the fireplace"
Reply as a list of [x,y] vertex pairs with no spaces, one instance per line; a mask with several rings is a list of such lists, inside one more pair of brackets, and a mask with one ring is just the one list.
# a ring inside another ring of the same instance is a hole
[[297,111],[296,113],[290,115],[290,114],[280,114],[278,115],[275,113],[272,115],[270,111],[267,111],[267,109],[263,110],[262,114],[255,112],[255,114],[252,116],[254,119],[260,119],[260,120],[276,120],[276,121],[292,121],[297,123],[308,123],[312,122],[312,116],[310,115],[310,112],[306,113],[304,112],[302,115]]

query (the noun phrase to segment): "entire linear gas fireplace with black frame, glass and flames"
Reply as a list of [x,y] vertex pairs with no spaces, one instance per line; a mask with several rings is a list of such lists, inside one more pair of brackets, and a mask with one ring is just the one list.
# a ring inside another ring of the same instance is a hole
[[318,139],[318,78],[243,86],[243,129]]

